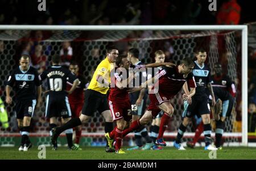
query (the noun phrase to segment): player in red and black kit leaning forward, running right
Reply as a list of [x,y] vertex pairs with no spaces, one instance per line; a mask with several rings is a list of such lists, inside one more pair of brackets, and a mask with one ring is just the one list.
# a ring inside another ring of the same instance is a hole
[[[131,123],[131,126],[123,131],[123,137],[129,134],[131,131],[138,129],[139,127],[151,122],[152,118],[155,118],[158,113],[163,110],[166,114],[172,116],[174,113],[174,107],[170,103],[170,99],[174,97],[183,87],[184,83],[187,81],[188,86],[191,88],[191,93],[195,91],[195,81],[191,70],[194,67],[192,59],[185,57],[181,64],[178,66],[172,66],[172,68],[163,67],[152,79],[146,81],[143,85],[147,85],[148,82],[156,81],[159,79],[158,83],[155,82],[152,87],[154,94],[150,94],[150,105],[148,106],[146,112],[141,119],[135,120]],[[158,85],[158,86],[157,86]],[[134,89],[140,90],[140,89]],[[184,98],[191,98],[189,95],[185,95]]]

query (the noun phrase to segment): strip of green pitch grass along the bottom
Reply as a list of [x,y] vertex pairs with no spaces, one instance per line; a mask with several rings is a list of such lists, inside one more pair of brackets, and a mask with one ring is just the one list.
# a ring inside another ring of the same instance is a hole
[[[124,148],[126,151],[126,148]],[[18,147],[0,147],[0,159],[36,160],[39,149],[32,147],[27,152],[19,152]],[[52,151],[46,148],[47,160],[209,160],[209,152],[203,148],[178,151],[174,147],[165,147],[163,150],[153,151],[126,151],[126,154],[106,153],[104,147],[83,147],[81,151],[68,151],[67,147],[60,147]],[[216,151],[217,160],[226,159],[256,159],[256,148],[224,147]]]

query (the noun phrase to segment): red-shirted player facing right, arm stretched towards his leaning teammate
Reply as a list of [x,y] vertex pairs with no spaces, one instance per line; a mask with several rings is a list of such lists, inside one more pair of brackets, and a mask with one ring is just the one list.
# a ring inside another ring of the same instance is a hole
[[[125,153],[121,148],[122,144],[122,131],[129,125],[131,120],[131,103],[127,92],[127,87],[133,81],[135,73],[129,73],[127,78],[127,70],[129,69],[129,61],[126,56],[118,56],[115,61],[118,68],[114,70],[113,84],[109,94],[109,108],[112,113],[113,120],[117,121],[117,127],[110,133],[106,133],[106,139],[108,140],[109,146],[112,146],[113,140],[115,139],[115,152]],[[162,64],[147,64],[137,65],[138,67],[158,67],[158,66],[171,66],[172,63],[166,62]],[[137,67],[136,66],[136,67]],[[151,142],[150,142],[151,143]]]

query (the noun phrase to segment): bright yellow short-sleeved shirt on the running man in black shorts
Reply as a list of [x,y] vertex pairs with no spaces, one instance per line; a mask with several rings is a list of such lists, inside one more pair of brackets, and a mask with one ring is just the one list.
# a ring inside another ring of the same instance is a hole
[[112,68],[114,68],[114,63],[111,63],[108,57],[106,57],[105,60],[102,60],[100,64],[98,64],[93,74],[93,77],[92,77],[92,80],[90,81],[88,89],[98,91],[101,94],[106,94],[107,91],[109,90],[109,86],[107,86],[106,83],[104,85],[102,79],[97,80],[97,76],[98,75],[102,76],[104,80],[108,81],[108,84],[110,84],[110,70]]

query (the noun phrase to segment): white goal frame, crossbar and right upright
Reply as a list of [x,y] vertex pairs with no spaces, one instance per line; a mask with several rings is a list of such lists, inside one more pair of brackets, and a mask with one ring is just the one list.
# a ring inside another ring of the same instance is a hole
[[242,144],[247,145],[247,25],[200,26],[40,26],[1,25],[0,30],[239,30],[242,31]]

